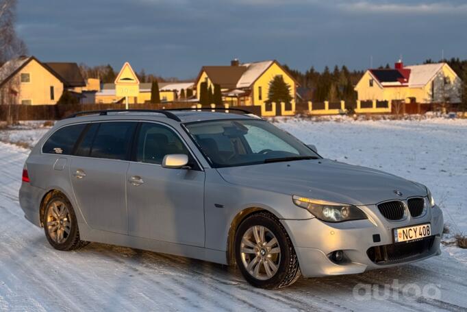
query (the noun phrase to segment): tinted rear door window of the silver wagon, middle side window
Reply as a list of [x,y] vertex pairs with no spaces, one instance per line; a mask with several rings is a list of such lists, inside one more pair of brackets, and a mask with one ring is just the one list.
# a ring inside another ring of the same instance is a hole
[[136,122],[107,122],[99,125],[91,157],[126,160]]

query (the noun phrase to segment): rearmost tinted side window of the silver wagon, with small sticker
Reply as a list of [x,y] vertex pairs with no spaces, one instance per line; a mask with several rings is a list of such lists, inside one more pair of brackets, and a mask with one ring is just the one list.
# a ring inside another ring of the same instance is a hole
[[55,131],[42,146],[42,153],[71,155],[79,135],[86,127],[85,123],[68,125]]

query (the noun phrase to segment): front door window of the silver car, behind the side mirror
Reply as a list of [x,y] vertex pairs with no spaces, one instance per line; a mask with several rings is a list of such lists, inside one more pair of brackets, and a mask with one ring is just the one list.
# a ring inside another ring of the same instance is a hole
[[173,130],[157,123],[142,123],[136,161],[160,165],[168,154],[185,154],[190,157],[185,144]]

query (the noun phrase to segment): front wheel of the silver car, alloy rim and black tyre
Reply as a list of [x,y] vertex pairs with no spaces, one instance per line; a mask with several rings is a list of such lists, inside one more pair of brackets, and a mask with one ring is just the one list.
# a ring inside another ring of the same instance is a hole
[[244,278],[255,287],[286,287],[301,275],[292,241],[270,213],[256,213],[240,224],[235,256]]

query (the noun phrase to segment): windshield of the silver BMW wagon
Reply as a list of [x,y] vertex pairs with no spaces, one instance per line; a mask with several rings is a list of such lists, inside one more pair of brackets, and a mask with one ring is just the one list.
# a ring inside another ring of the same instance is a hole
[[263,120],[202,121],[188,132],[215,168],[318,159],[318,154]]

